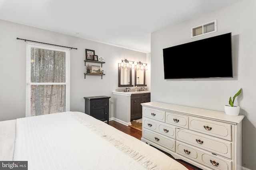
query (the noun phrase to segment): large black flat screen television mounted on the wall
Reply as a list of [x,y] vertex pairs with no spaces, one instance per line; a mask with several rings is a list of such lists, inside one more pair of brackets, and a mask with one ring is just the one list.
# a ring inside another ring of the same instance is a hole
[[231,78],[231,33],[163,49],[164,79]]

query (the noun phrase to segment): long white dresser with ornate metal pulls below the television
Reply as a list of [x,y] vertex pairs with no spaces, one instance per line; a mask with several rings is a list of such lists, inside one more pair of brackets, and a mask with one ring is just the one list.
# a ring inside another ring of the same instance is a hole
[[141,105],[141,141],[204,170],[242,168],[244,115],[160,102]]

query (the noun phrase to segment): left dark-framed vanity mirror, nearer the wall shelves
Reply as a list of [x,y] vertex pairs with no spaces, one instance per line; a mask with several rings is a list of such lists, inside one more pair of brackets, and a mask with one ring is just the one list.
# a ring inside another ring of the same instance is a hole
[[118,87],[132,86],[132,69],[124,68],[118,63]]

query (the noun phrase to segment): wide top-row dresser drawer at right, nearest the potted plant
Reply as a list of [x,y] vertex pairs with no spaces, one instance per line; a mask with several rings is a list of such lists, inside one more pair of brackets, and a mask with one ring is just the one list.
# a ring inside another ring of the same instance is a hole
[[232,140],[231,128],[232,125],[230,124],[210,121],[198,117],[189,117],[190,130],[226,139],[228,141]]

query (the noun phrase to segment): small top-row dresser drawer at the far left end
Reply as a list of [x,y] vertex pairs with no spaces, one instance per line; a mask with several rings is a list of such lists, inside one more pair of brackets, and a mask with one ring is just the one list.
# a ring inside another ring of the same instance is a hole
[[148,107],[143,107],[143,115],[145,117],[149,117],[151,119],[154,120],[158,120],[158,121],[165,121],[165,117],[164,117],[164,111],[158,110],[158,109],[152,109],[152,108],[148,108]]

